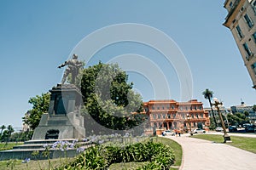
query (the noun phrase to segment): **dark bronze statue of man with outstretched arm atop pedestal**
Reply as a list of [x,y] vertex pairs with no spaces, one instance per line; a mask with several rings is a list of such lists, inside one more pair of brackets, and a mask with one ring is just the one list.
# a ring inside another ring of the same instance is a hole
[[72,76],[71,83],[74,84],[76,77],[79,75],[79,68],[83,66],[83,63],[78,60],[77,54],[73,54],[73,59],[69,59],[65,61],[65,63],[58,66],[58,68],[60,69],[61,67],[64,67],[66,65],[67,65],[67,69],[64,72],[61,83],[64,84],[66,82],[67,76],[71,74]]

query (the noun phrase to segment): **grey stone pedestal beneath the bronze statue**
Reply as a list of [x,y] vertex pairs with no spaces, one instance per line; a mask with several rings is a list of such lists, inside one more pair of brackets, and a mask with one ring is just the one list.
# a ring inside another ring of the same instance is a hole
[[49,92],[49,111],[41,117],[32,140],[84,138],[84,116],[80,115],[83,99],[79,88],[58,84]]

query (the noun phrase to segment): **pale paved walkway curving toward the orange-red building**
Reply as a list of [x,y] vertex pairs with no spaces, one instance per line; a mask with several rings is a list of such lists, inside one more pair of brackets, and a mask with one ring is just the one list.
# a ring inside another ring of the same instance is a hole
[[211,141],[168,136],[183,147],[181,170],[253,170],[256,169],[256,154],[228,144]]

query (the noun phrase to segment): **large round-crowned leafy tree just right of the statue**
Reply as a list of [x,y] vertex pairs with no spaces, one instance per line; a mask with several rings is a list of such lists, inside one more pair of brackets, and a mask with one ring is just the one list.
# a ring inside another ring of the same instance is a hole
[[84,69],[81,79],[84,113],[110,129],[125,130],[143,122],[144,117],[139,114],[142,111],[142,97],[132,90],[133,84],[127,80],[125,71],[117,64],[99,62]]

